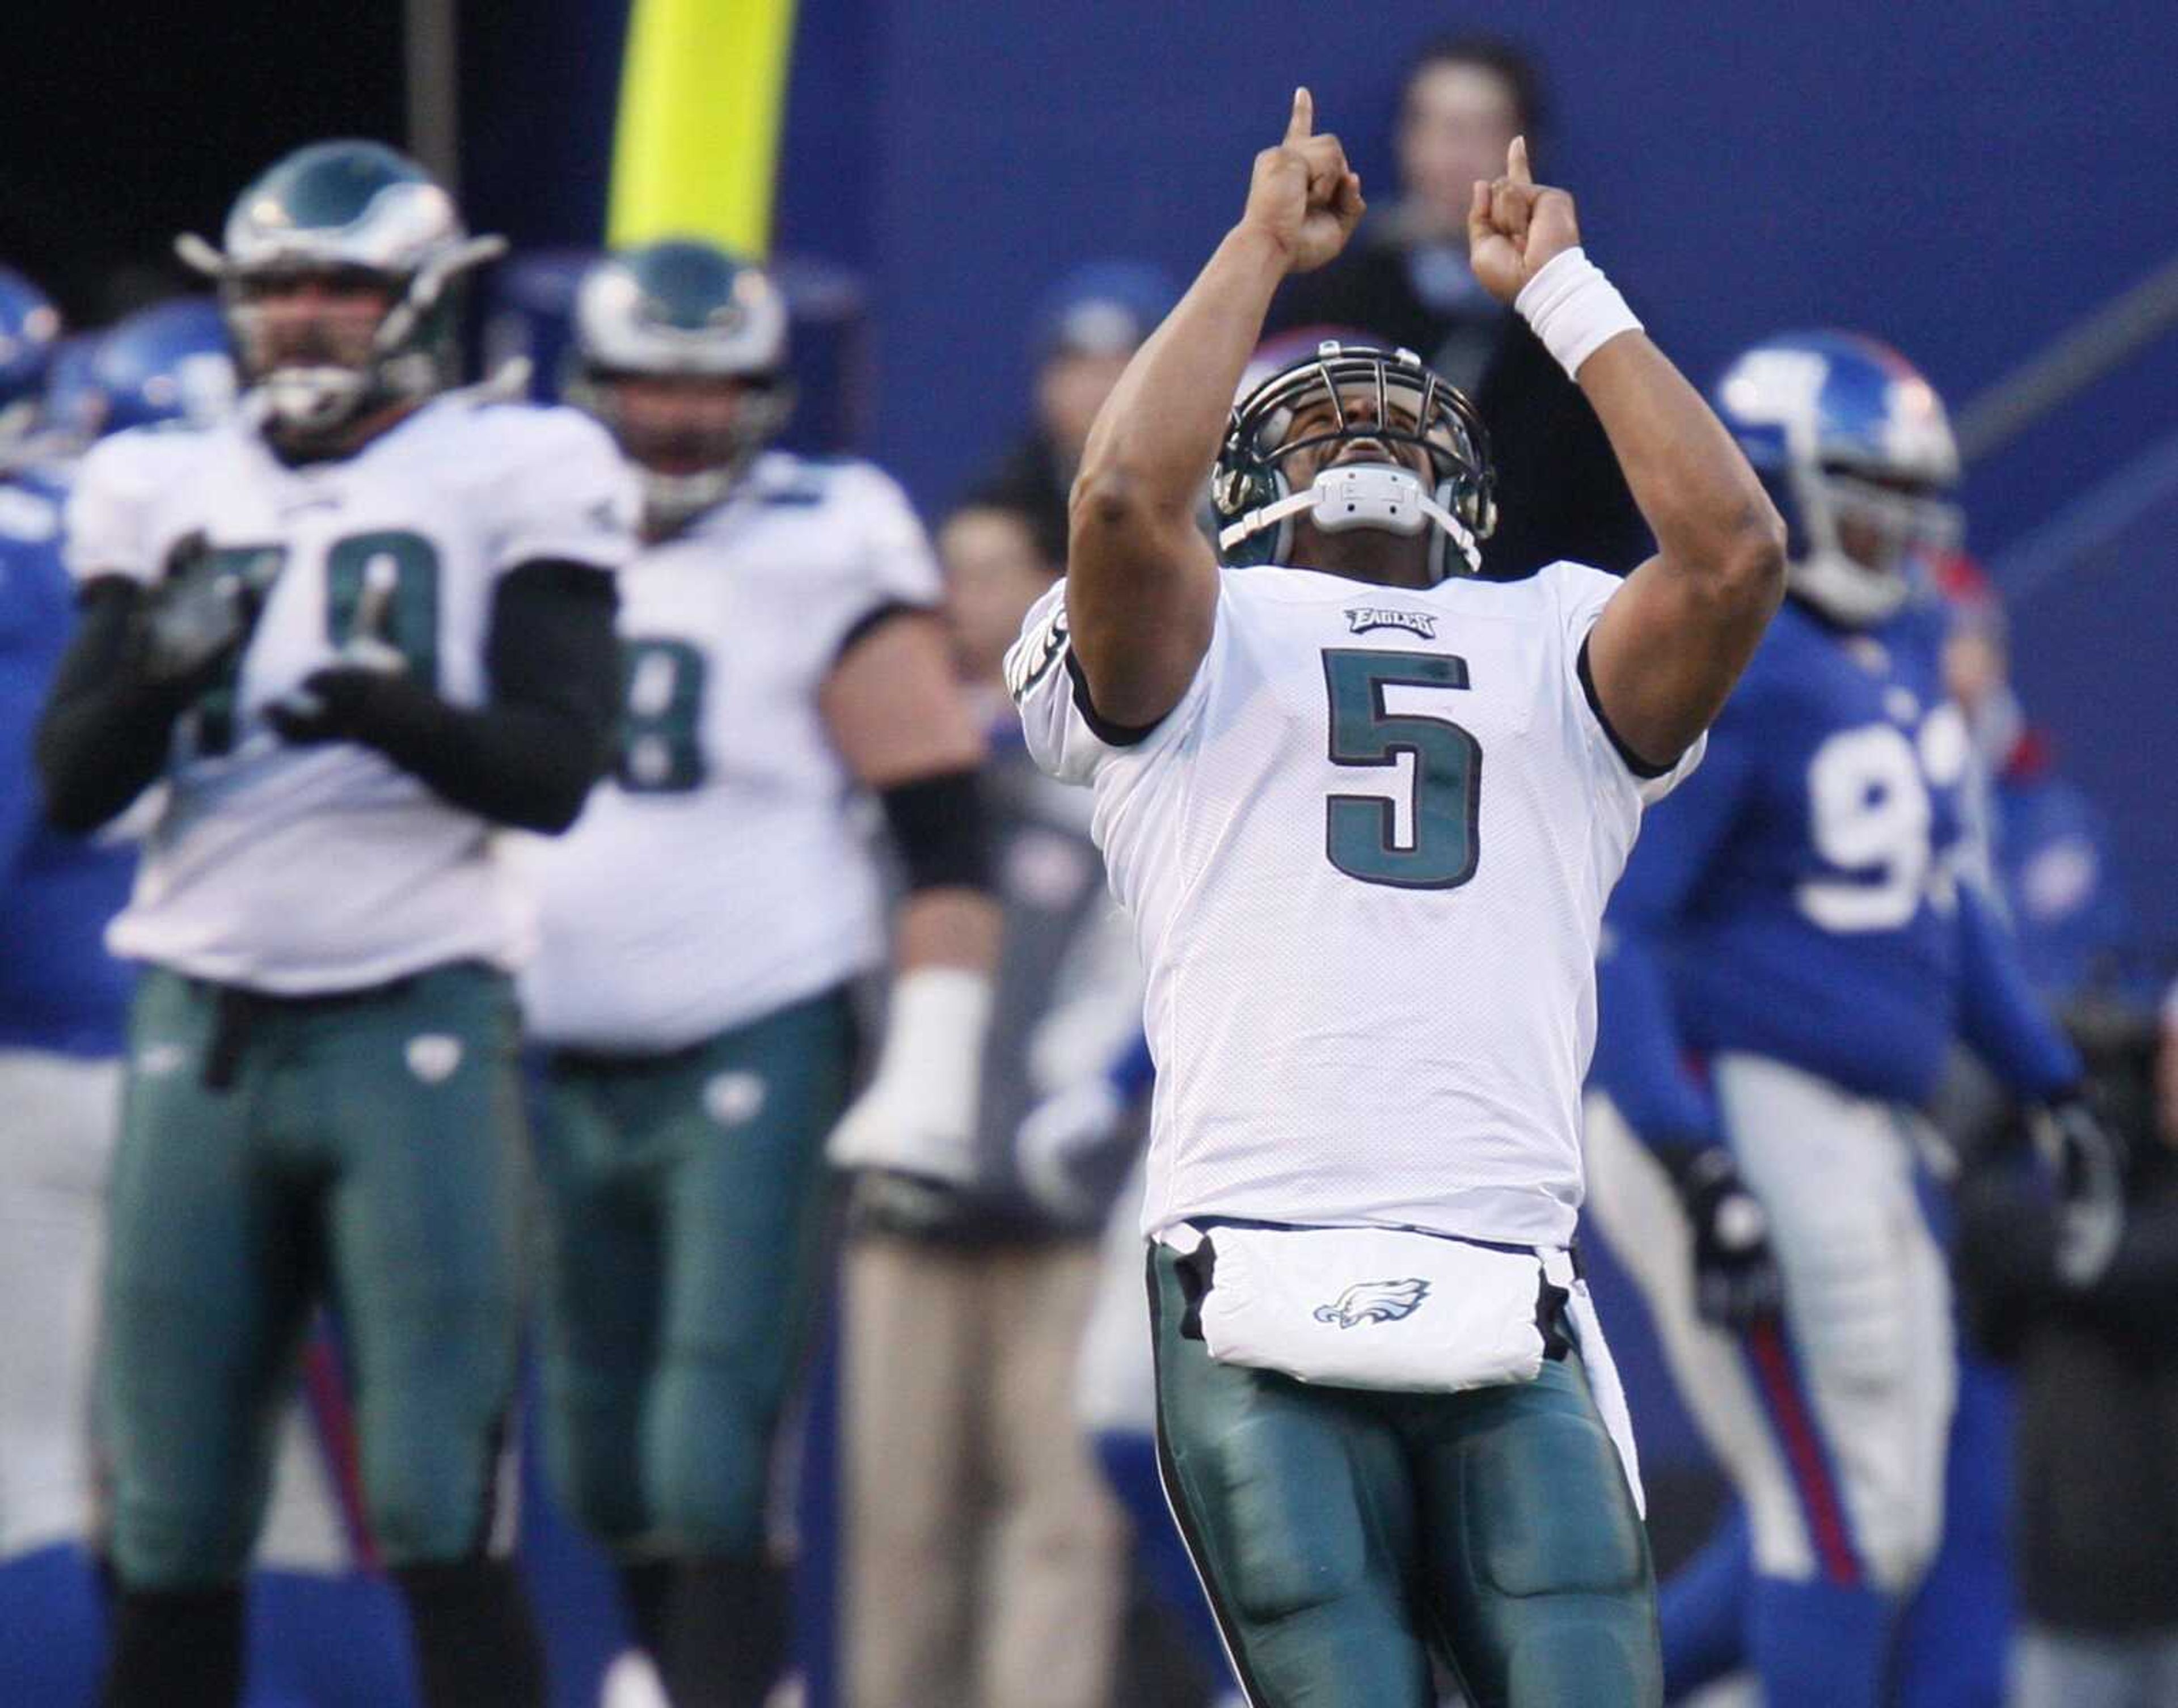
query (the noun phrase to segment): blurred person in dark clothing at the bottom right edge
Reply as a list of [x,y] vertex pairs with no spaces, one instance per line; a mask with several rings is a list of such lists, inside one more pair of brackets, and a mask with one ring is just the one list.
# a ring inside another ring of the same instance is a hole
[[2128,1224],[2097,1281],[2058,1277],[2056,1218],[2002,1157],[1960,1187],[1960,1292],[2017,1366],[2015,1708],[2178,1701],[2178,989],[2073,1026],[2132,1142]]

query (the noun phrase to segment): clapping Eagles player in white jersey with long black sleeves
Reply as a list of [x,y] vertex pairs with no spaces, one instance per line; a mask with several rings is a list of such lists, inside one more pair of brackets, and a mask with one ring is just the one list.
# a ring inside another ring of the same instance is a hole
[[213,272],[250,388],[100,442],[48,815],[163,782],[109,945],[142,963],[100,1379],[120,1582],[105,1701],[231,1704],[240,1575],[309,1309],[338,1303],[364,1505],[431,1708],[542,1704],[494,1558],[514,1390],[525,915],[499,826],[571,823],[610,756],[634,486],[571,410],[444,394],[494,253],[377,144],[296,150]]

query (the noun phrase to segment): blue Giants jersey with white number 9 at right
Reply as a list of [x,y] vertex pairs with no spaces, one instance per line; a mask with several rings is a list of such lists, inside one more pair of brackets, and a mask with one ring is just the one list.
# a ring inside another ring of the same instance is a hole
[[1592,1072],[1636,1131],[1718,1133],[1681,1057],[1640,1048],[1657,1013],[1699,1054],[1771,1057],[1884,1102],[1925,1102],[1958,1037],[2028,1094],[2078,1078],[2004,926],[1958,880],[1971,754],[1941,638],[1919,606],[1843,632],[1790,601],[1699,780],[1644,826],[1612,900]]

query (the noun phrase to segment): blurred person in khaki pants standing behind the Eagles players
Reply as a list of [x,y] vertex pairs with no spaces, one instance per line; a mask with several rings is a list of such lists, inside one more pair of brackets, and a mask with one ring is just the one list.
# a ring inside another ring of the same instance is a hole
[[[956,664],[991,730],[1004,906],[978,1168],[904,1213],[862,1198],[847,1266],[854,1708],[1102,1708],[1122,1525],[1074,1423],[1096,1227],[1126,1155],[1024,1179],[1030,1105],[1139,1024],[1141,983],[1089,800],[1021,747],[1000,660],[1054,575],[1032,518],[971,503],[939,534]],[[1139,1303],[1139,1301],[1137,1301]]]

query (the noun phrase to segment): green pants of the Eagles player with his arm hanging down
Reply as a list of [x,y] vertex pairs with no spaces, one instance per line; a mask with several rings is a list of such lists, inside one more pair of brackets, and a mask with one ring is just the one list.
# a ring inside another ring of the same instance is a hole
[[666,1057],[547,1070],[547,1447],[560,1499],[610,1547],[764,1540],[852,1050],[834,991]]

